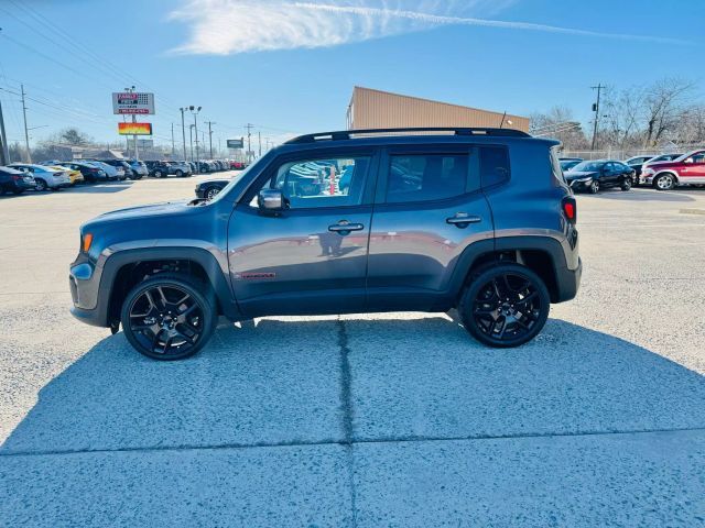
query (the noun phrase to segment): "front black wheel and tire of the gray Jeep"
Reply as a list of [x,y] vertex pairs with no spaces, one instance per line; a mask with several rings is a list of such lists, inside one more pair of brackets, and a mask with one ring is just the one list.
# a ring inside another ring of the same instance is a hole
[[130,344],[153,360],[175,361],[203,349],[218,322],[215,296],[192,277],[158,274],[127,295],[120,322]]

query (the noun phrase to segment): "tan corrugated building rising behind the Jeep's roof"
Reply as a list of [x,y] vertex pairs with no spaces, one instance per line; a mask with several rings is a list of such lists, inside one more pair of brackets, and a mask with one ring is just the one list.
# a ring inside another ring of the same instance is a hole
[[487,127],[529,132],[529,118],[356,86],[347,128]]

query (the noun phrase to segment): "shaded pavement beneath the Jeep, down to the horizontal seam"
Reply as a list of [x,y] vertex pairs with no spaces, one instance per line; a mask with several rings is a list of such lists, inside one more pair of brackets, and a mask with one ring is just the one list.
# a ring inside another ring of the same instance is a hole
[[282,318],[221,328],[181,362],[106,338],[40,391],[0,454],[704,425],[704,376],[566,321],[496,350],[441,315]]

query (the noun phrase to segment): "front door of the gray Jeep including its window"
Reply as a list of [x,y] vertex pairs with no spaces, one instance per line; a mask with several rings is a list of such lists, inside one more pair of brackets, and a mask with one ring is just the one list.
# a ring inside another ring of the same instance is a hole
[[[369,150],[299,153],[258,178],[228,228],[230,277],[246,316],[362,310],[375,158]],[[281,190],[288,208],[260,210],[263,188]]]

